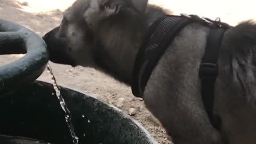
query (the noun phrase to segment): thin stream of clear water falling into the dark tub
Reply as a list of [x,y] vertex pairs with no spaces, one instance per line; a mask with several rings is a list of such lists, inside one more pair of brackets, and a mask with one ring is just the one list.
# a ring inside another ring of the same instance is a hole
[[[60,101],[60,106],[62,108],[62,110],[65,112],[65,119],[66,119],[66,122],[68,124],[68,127],[69,127],[69,131],[70,131],[70,134],[71,134],[71,137],[73,139],[73,143],[74,144],[78,144],[78,137],[76,137],[76,134],[75,134],[75,130],[74,130],[74,127],[71,123],[71,117],[70,117],[70,111],[65,103],[65,100],[62,98],[61,94],[60,94],[60,87],[59,85],[57,84],[57,81],[52,73],[52,68],[50,66],[49,63],[47,63],[47,73],[50,74],[51,76],[51,79],[52,79],[52,84],[53,84],[53,89],[55,90],[55,94],[57,95],[57,98],[59,99]],[[54,94],[53,94],[54,95]]]

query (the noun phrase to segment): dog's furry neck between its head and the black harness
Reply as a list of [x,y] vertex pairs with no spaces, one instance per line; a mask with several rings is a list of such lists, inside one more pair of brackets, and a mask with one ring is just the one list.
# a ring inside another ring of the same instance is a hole
[[97,32],[99,42],[94,52],[100,70],[131,85],[134,61],[147,29],[165,14],[160,7],[149,5],[143,16],[124,14],[104,21]]

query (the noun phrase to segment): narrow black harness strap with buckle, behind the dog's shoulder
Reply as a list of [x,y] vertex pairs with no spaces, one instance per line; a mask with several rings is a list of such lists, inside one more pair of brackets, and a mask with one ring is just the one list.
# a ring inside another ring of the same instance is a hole
[[201,94],[206,112],[215,129],[220,130],[218,116],[214,115],[214,88],[218,76],[218,56],[222,43],[222,37],[226,28],[212,28],[207,37],[205,53],[199,68],[199,78],[201,78]]

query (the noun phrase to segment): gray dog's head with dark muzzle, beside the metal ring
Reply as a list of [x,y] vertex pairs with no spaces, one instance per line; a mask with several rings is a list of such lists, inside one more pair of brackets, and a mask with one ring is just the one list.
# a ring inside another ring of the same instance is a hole
[[63,13],[60,26],[43,36],[50,52],[50,60],[65,65],[90,67],[94,63],[92,53],[103,21],[117,17],[120,13],[144,13],[147,2],[77,0]]

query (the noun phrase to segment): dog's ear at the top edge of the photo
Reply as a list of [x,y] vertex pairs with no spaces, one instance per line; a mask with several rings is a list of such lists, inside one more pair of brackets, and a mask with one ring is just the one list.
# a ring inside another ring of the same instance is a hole
[[148,0],[91,0],[89,8],[84,13],[84,19],[90,26],[97,25],[100,20],[117,14],[121,9],[133,9],[145,13]]

